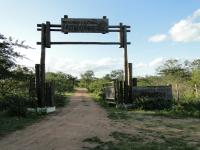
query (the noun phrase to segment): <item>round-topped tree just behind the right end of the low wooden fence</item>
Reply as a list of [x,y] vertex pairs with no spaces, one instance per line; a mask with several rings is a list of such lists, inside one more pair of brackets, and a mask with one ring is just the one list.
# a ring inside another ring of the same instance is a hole
[[157,68],[158,74],[164,79],[165,84],[171,84],[176,99],[185,97],[185,93],[191,91],[191,69],[190,62],[181,62],[177,59],[169,59]]

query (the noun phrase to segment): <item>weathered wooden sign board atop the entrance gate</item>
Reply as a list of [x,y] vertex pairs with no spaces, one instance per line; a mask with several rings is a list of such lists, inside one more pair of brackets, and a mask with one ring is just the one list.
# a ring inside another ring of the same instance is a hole
[[108,33],[108,19],[62,18],[61,30],[64,33]]

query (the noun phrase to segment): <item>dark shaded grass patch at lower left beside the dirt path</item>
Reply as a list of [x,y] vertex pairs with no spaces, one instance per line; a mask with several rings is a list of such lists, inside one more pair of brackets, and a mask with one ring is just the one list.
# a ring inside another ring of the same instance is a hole
[[3,137],[13,131],[23,129],[42,118],[45,115],[28,113],[26,117],[11,117],[6,112],[0,112],[0,137]]

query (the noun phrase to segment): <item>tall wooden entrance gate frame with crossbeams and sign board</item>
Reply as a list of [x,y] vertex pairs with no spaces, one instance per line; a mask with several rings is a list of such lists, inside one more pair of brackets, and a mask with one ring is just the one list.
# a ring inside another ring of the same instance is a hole
[[[51,45],[58,44],[93,44],[93,45],[119,45],[120,48],[124,48],[124,83],[125,83],[125,101],[128,100],[128,54],[127,45],[127,32],[130,32],[130,26],[123,25],[109,25],[109,20],[106,16],[102,19],[91,18],[69,18],[67,15],[61,18],[61,24],[51,24],[49,21],[42,24],[37,24],[37,31],[41,31],[41,42],[37,42],[41,45],[41,60],[40,60],[40,83],[37,86],[39,89],[39,104],[44,107],[45,104],[45,48],[51,48]],[[69,33],[102,33],[107,34],[110,32],[119,33],[119,42],[52,42],[51,31]]]

